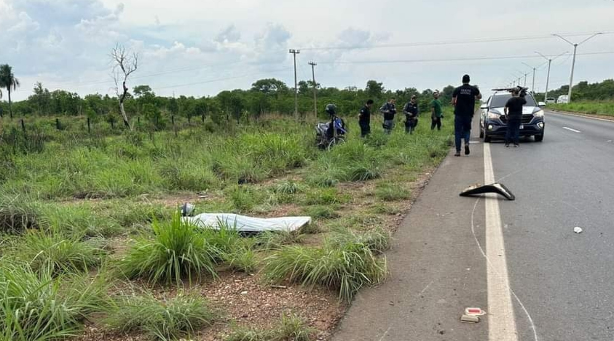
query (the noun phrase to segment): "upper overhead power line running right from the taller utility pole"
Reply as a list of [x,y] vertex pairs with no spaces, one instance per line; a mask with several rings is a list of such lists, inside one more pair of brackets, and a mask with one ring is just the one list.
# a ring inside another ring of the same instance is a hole
[[[575,32],[567,33],[565,36],[586,36],[596,32]],[[614,31],[600,31],[602,34],[611,34]],[[477,44],[485,42],[508,42],[515,40],[536,40],[536,39],[553,39],[552,34],[540,34],[535,36],[515,36],[515,37],[494,37],[494,38],[476,38],[465,40],[443,40],[439,42],[408,42],[398,44],[381,44],[381,45],[354,45],[354,46],[327,46],[327,47],[303,47],[301,50],[371,50],[374,48],[394,48],[394,47],[416,47],[416,46],[437,46],[437,45],[457,45],[457,44]]]

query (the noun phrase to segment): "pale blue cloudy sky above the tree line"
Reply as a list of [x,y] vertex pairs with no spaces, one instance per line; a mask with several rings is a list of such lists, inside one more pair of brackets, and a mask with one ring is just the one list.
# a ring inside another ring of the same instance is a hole
[[[441,89],[467,73],[480,88],[528,73],[543,91],[547,56],[580,42],[574,83],[614,78],[614,1],[414,0],[0,0],[0,64],[49,90],[114,94],[111,49],[139,54],[128,86],[161,96],[213,96],[262,78],[293,86],[317,63],[322,86]],[[581,35],[586,33],[588,35]],[[515,39],[502,39],[514,37]],[[612,53],[597,53],[612,52]],[[489,59],[492,57],[518,57]],[[552,62],[550,88],[569,83],[572,58]],[[6,100],[6,91],[4,100]]]

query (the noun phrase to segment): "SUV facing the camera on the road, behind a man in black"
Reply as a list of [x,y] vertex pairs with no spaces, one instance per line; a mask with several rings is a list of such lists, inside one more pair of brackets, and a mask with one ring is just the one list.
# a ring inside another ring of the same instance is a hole
[[[482,104],[480,115],[480,138],[484,142],[491,142],[493,137],[505,137],[507,131],[507,117],[503,113],[503,108],[511,93],[508,91],[495,91],[486,104]],[[545,122],[543,120],[543,110],[546,104],[536,102],[532,94],[527,93],[527,104],[523,107],[523,120],[520,126],[520,136],[533,136],[535,141],[542,142]]]

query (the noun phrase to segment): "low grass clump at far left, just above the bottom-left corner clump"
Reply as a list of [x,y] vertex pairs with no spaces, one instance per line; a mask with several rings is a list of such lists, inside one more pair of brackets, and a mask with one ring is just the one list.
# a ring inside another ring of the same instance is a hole
[[15,240],[13,254],[28,262],[33,270],[60,272],[87,271],[101,263],[104,251],[89,240],[31,231]]

